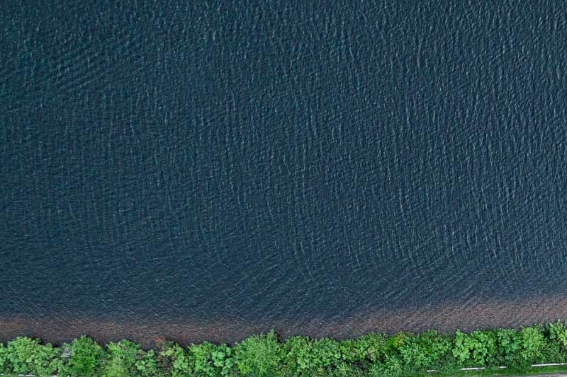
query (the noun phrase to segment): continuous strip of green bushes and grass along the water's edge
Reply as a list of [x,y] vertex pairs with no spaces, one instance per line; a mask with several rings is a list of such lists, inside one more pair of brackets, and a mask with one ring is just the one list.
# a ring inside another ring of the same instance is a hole
[[[357,340],[313,340],[275,332],[229,347],[162,342],[145,350],[129,340],[101,347],[83,336],[61,347],[18,337],[0,344],[0,373],[71,377],[374,377],[495,376],[567,371],[532,364],[567,362],[567,326],[557,321],[515,329],[369,334]],[[499,369],[506,366],[506,369]],[[461,368],[484,367],[483,371]],[[434,370],[431,372],[430,370]],[[428,372],[430,371],[430,372]]]

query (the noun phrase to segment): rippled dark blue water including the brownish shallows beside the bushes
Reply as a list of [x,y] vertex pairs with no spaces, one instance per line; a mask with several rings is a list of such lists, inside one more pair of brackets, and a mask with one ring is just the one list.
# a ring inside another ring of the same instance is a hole
[[567,316],[562,1],[0,13],[0,338]]

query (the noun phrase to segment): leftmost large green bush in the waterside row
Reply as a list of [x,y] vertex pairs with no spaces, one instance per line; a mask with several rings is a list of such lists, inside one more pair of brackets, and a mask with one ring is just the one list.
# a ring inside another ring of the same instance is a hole
[[45,376],[57,373],[62,367],[60,349],[49,343],[42,345],[38,339],[17,337],[8,343],[3,354],[8,373]]

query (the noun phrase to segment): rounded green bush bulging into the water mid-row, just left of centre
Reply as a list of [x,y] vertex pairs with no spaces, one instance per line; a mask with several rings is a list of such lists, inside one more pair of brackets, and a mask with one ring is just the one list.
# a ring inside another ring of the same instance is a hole
[[235,364],[245,376],[272,376],[281,362],[282,353],[276,333],[248,337],[235,345]]

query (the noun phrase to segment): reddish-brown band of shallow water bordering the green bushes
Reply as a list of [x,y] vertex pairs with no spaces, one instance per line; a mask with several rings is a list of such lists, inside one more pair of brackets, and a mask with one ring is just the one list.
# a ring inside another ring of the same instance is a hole
[[443,303],[423,308],[375,310],[357,313],[349,318],[325,320],[271,320],[252,323],[242,319],[203,321],[197,318],[154,320],[89,317],[88,315],[0,315],[0,342],[17,336],[39,337],[60,344],[80,335],[100,342],[129,339],[151,347],[156,340],[173,340],[181,344],[203,341],[232,344],[250,334],[276,330],[281,337],[306,335],[315,339],[332,337],[350,339],[380,332],[472,331],[483,328],[520,327],[567,318],[567,296],[541,296],[522,300],[493,300],[483,303]]

